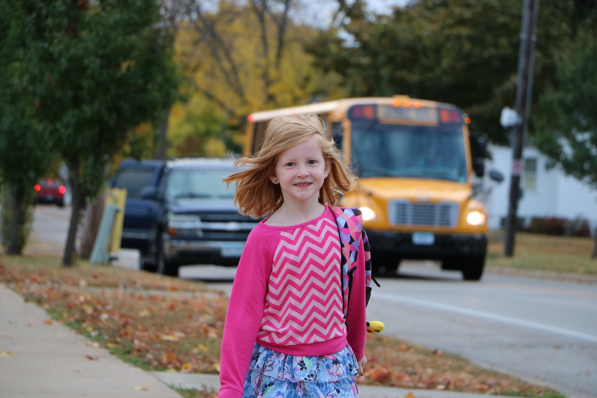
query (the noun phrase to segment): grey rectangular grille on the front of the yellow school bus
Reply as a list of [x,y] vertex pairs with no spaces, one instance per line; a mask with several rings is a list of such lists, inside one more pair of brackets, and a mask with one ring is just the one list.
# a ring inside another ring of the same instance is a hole
[[395,225],[454,227],[458,223],[458,203],[413,203],[393,200],[388,203],[390,223]]

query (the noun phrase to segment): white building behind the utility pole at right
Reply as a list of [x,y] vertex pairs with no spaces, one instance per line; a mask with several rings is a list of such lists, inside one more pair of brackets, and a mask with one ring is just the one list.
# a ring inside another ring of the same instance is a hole
[[[485,170],[496,169],[504,175],[504,181],[494,186],[491,195],[485,200],[489,227],[498,229],[501,218],[507,215],[512,149],[490,145],[488,150],[492,160],[485,163]],[[557,167],[547,170],[547,157],[534,148],[526,147],[522,158],[525,171],[521,177],[523,195],[518,203],[518,217],[582,217],[589,220],[591,233],[594,233],[597,226],[597,189],[565,175]],[[485,178],[487,187],[492,182]]]

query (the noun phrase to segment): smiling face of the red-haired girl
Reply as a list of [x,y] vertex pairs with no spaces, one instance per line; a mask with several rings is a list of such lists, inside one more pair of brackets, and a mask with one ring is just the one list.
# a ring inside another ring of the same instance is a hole
[[329,174],[330,162],[325,161],[317,139],[312,137],[278,156],[276,174],[270,180],[280,184],[285,201],[316,202],[324,175]]

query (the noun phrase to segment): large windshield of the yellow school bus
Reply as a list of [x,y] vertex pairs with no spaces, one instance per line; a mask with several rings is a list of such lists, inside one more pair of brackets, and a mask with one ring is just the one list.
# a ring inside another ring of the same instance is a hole
[[352,122],[352,160],[361,177],[413,177],[466,182],[461,125]]

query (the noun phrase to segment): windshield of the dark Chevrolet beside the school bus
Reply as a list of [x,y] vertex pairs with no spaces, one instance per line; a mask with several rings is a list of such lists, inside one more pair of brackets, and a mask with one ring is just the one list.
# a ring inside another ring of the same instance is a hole
[[234,186],[226,189],[222,178],[232,174],[232,169],[172,169],[166,187],[168,200],[232,199]]

